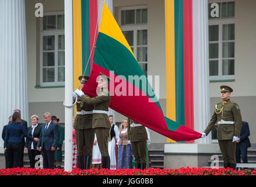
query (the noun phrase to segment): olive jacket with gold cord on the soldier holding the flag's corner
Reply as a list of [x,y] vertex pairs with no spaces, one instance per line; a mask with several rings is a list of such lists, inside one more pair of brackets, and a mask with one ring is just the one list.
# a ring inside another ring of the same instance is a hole
[[237,103],[230,101],[230,99],[228,99],[226,103],[217,103],[214,108],[213,116],[211,117],[206,130],[204,130],[204,133],[206,133],[206,135],[209,134],[215,123],[220,122],[221,120],[234,122],[234,124],[218,124],[218,140],[230,140],[233,139],[233,136],[240,136],[242,117]]

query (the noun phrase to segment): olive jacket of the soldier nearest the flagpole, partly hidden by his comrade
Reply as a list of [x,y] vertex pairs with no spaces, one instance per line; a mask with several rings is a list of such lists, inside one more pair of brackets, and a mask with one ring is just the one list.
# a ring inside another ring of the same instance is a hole
[[[81,100],[77,100],[76,103],[77,112],[84,111],[93,111],[94,105],[89,105],[87,103],[83,103]],[[93,127],[93,114],[87,115],[76,115],[74,119],[74,129],[91,129]]]

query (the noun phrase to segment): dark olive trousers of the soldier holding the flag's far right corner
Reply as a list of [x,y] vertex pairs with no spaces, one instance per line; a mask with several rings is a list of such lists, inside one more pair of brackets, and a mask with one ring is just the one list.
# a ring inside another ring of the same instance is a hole
[[224,163],[235,164],[235,142],[232,140],[219,140],[221,154]]

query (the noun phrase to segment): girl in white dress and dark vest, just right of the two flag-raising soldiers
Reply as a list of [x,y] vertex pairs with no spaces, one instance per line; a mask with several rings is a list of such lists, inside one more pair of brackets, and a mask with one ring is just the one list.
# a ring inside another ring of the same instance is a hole
[[111,123],[111,129],[110,129],[110,140],[108,140],[108,154],[110,154],[110,169],[117,169],[117,144],[116,144],[116,138],[119,137],[119,129],[116,124],[113,124],[113,116],[108,116],[108,119],[110,119]]

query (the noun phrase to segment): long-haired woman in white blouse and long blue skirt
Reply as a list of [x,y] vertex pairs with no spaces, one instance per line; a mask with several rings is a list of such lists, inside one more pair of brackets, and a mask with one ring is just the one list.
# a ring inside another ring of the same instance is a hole
[[117,140],[118,155],[117,169],[132,168],[132,147],[131,142],[127,140],[128,119],[122,120],[120,132]]

